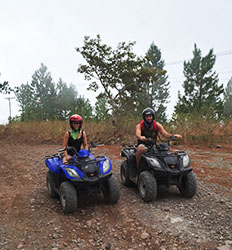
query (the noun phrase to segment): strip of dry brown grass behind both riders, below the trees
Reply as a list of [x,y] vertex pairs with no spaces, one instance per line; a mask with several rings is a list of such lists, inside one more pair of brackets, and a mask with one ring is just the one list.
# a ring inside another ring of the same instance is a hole
[[[88,142],[112,144],[135,139],[135,126],[139,122],[134,118],[121,118],[117,123],[117,133],[114,136],[112,120],[84,121],[83,129],[87,133]],[[199,117],[193,119],[179,119],[164,128],[170,133],[183,136],[181,144],[197,144],[215,146],[217,144],[230,145],[232,141],[232,120],[215,122]],[[69,129],[68,121],[42,122],[12,122],[0,126],[0,139],[25,143],[55,143],[62,144],[65,131]]]

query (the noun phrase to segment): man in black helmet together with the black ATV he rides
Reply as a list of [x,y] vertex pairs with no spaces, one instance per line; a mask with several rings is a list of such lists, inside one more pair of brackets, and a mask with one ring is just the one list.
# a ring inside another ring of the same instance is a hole
[[[157,143],[159,132],[168,139],[167,143]],[[176,186],[184,197],[192,198],[197,193],[197,180],[190,157],[183,150],[170,151],[170,142],[181,135],[165,131],[155,122],[154,111],[146,108],[143,120],[136,126],[136,136],[138,147],[126,147],[121,152],[126,158],[120,168],[122,184],[137,185],[145,202],[156,198],[158,186]]]

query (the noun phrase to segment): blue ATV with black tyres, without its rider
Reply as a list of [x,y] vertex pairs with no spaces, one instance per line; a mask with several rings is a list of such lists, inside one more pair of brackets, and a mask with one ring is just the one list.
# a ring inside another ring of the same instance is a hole
[[[62,162],[64,150],[73,152],[67,164]],[[94,157],[90,149],[77,153],[75,148],[68,147],[46,156],[45,164],[49,169],[46,177],[48,194],[52,198],[60,198],[64,213],[77,209],[77,197],[81,193],[102,192],[108,204],[119,200],[119,185],[108,157]]]

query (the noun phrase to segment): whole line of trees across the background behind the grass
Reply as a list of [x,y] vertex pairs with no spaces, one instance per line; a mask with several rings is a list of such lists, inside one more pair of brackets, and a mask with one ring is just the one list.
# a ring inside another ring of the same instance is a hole
[[[146,107],[156,112],[156,120],[167,122],[170,82],[161,50],[152,42],[142,57],[133,52],[135,42],[120,42],[116,49],[96,38],[85,37],[84,45],[76,48],[85,59],[77,71],[85,77],[89,91],[100,91],[94,106],[80,96],[75,85],[62,79],[55,83],[47,66],[41,63],[31,81],[11,88],[0,83],[0,93],[14,93],[20,115],[10,121],[66,120],[78,113],[84,119],[118,121],[122,116],[141,117]],[[214,70],[213,49],[202,55],[194,44],[192,59],[184,61],[184,94],[178,94],[172,120],[195,115],[222,120],[232,118],[232,77],[226,88],[219,83]]]

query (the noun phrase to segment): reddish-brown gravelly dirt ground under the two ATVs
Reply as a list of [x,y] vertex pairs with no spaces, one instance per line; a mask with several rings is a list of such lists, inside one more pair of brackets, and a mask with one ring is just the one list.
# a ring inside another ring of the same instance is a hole
[[[106,205],[101,195],[80,197],[62,213],[47,194],[44,156],[57,145],[0,143],[0,249],[230,249],[232,247],[232,153],[187,148],[198,194],[161,188],[157,200],[141,201],[120,183],[121,198]],[[119,146],[101,146],[119,178]],[[222,247],[223,246],[223,247]]]

